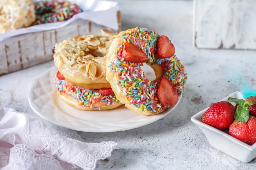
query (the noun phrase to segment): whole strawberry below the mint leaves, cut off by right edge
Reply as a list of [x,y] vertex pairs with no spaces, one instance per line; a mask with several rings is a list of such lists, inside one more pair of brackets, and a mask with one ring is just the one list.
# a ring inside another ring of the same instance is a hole
[[256,142],[256,118],[249,116],[247,122],[235,119],[229,126],[229,134],[248,145],[254,144]]

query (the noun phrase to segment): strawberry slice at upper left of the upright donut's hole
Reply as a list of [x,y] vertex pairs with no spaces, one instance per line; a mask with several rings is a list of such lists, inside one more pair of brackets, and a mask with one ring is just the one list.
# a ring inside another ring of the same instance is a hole
[[143,63],[148,60],[146,53],[130,42],[124,44],[123,49],[122,55],[128,62]]

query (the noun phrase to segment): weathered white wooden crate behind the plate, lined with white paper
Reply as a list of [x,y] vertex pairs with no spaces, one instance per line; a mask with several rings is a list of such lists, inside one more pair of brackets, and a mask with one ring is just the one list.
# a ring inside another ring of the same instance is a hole
[[88,20],[78,20],[63,28],[27,33],[4,40],[0,42],[0,75],[53,60],[52,49],[55,43],[73,38],[75,35],[101,33],[101,29],[119,33],[121,31],[119,11],[117,22],[119,29],[113,30]]

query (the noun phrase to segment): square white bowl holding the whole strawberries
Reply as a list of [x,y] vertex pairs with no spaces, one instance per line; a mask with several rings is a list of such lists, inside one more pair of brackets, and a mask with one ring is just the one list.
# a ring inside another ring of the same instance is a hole
[[[243,95],[236,91],[221,101],[227,101],[229,97],[243,99]],[[242,162],[252,161],[256,157],[256,143],[250,146],[229,135],[227,129],[219,130],[203,123],[201,117],[208,108],[193,115],[191,121],[202,130],[211,146]]]

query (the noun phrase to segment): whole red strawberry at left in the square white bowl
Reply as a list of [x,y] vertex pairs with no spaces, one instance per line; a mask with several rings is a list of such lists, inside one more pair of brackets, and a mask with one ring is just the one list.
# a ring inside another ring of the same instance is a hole
[[208,108],[201,120],[214,128],[224,129],[228,128],[234,121],[235,112],[236,110],[231,103],[227,101],[217,102]]

